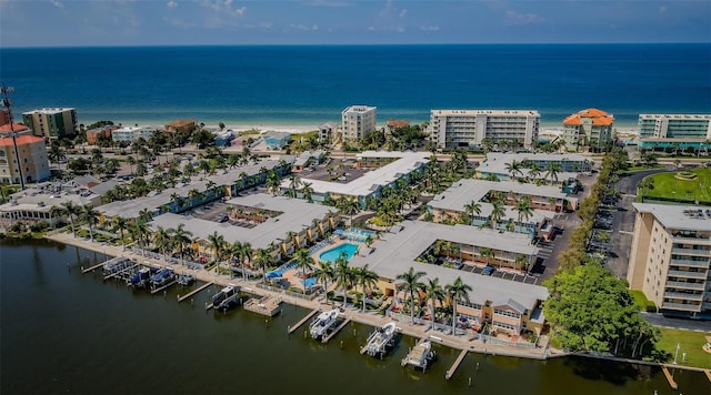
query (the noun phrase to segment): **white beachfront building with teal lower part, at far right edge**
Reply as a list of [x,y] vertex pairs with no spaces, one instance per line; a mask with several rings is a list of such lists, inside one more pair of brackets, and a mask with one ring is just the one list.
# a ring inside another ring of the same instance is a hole
[[711,140],[711,114],[640,114],[638,125],[640,149],[698,150]]

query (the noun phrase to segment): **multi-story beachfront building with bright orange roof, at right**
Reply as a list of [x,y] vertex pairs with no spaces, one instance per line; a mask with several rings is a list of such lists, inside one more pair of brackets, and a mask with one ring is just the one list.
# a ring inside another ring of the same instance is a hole
[[598,109],[578,111],[563,120],[561,138],[568,151],[578,151],[588,145],[602,149],[612,141],[612,123],[614,117]]

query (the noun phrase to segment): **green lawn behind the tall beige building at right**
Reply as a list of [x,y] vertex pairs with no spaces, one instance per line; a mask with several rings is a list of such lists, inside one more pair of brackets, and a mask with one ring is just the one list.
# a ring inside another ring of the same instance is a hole
[[[711,169],[693,170],[694,180],[674,179],[675,173],[660,173],[648,178],[654,180],[654,188],[643,192],[644,198],[678,199],[693,203],[695,201],[711,203]],[[647,180],[645,178],[644,180]],[[641,196],[638,196],[641,200]]]

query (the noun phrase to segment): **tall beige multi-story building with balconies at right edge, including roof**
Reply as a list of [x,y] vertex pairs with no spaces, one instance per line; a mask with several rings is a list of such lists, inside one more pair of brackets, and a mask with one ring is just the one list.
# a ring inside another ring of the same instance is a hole
[[711,317],[711,209],[633,203],[628,282],[667,315]]

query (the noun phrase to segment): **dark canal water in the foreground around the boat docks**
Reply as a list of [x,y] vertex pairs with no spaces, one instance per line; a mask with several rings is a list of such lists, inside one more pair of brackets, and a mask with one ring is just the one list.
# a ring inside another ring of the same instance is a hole
[[303,308],[283,305],[274,318],[241,307],[206,313],[217,288],[178,304],[188,287],[150,295],[81,273],[103,259],[46,241],[0,242],[0,393],[711,393],[701,373],[677,371],[672,392],[658,368],[577,357],[470,354],[445,381],[457,351],[435,346],[431,369],[415,372],[400,366],[414,338],[382,359],[363,356],[365,325],[349,324],[323,345],[303,330],[287,334]]

